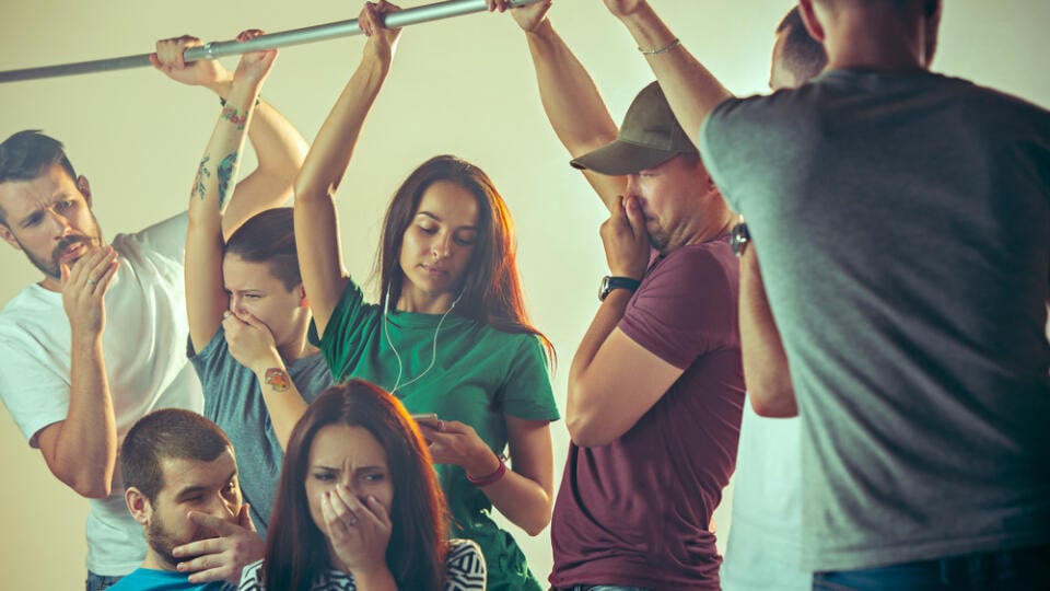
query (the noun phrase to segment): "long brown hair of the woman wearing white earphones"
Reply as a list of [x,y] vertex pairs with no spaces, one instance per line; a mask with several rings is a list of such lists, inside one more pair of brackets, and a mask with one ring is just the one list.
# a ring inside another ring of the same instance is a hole
[[489,175],[460,158],[446,154],[423,162],[394,194],[380,241],[380,301],[397,302],[401,296],[405,273],[400,267],[400,255],[405,231],[416,217],[423,193],[439,181],[459,185],[478,202],[477,241],[462,280],[462,299],[453,313],[505,333],[536,335],[552,361],[555,350],[550,340],[529,324],[525,312],[511,211]]

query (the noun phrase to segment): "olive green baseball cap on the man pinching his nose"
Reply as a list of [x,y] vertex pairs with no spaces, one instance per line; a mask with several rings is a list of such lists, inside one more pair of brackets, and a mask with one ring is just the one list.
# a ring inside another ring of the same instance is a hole
[[570,164],[620,176],[652,169],[678,154],[697,152],[696,144],[689,141],[670,111],[664,91],[653,82],[634,97],[614,141],[573,159]]

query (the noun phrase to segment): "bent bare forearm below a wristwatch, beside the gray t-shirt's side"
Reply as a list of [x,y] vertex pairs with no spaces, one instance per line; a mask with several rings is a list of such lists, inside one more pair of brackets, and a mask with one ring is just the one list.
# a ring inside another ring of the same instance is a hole
[[788,356],[766,298],[754,247],[744,251],[740,257],[739,323],[744,382],[755,413],[763,417],[797,415]]

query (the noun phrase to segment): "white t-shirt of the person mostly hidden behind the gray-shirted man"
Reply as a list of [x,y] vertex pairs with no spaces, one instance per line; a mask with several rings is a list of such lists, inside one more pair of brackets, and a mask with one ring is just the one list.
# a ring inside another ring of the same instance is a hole
[[802,450],[798,418],[766,418],[744,404],[723,591],[808,591],[801,567]]

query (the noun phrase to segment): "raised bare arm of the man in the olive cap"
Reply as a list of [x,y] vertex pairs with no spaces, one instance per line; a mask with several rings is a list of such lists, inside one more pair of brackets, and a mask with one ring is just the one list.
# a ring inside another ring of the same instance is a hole
[[[525,31],[547,119],[569,154],[576,158],[615,140],[617,126],[591,74],[547,19],[550,7],[551,1],[546,0],[512,9],[511,14]],[[591,171],[583,174],[610,211],[618,207],[627,187],[625,177]]]

